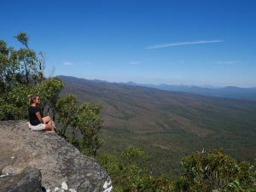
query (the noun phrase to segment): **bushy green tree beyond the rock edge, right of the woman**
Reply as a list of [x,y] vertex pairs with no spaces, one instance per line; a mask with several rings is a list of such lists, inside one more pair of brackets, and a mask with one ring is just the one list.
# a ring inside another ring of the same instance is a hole
[[[103,140],[100,136],[102,128],[102,116],[100,114],[101,105],[84,102],[80,106],[73,95],[61,96],[56,102],[58,120],[62,124],[60,133],[66,136],[69,128],[72,132],[71,143],[80,148],[84,154],[96,156],[96,151],[102,146]],[[78,139],[81,135],[82,140],[79,146]]]

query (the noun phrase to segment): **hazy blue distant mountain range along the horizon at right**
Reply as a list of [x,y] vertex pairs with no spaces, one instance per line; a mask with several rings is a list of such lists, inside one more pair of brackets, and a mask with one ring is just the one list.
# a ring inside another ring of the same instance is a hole
[[172,90],[199,94],[202,96],[218,96],[233,99],[244,99],[256,101],[256,87],[240,88],[236,86],[213,87],[213,86],[195,86],[195,85],[170,85],[170,84],[136,84],[133,82],[120,83],[133,86],[151,87],[158,90]]

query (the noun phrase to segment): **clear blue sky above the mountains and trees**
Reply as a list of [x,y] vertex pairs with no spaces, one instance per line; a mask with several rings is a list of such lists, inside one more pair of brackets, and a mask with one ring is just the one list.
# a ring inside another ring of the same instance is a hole
[[26,32],[46,73],[110,82],[256,86],[256,1],[0,3],[0,39]]

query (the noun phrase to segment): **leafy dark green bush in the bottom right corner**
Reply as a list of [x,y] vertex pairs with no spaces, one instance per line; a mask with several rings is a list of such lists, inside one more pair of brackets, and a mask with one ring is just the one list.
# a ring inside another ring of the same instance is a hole
[[182,176],[176,184],[177,191],[253,191],[256,172],[253,166],[223,152],[212,150],[197,152],[181,160]]

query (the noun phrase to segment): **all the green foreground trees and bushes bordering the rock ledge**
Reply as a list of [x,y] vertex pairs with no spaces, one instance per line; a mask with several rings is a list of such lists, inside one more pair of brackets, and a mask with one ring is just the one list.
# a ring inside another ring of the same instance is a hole
[[255,191],[255,165],[237,161],[222,151],[189,154],[180,160],[177,179],[148,172],[147,151],[136,146],[120,154],[97,153],[104,144],[102,106],[80,103],[76,96],[60,96],[61,79],[45,77],[44,55],[28,45],[26,33],[15,38],[23,45],[9,47],[0,40],[0,119],[26,119],[27,96],[41,98],[42,113],[50,113],[57,132],[80,152],[99,162],[113,181],[113,191]]

